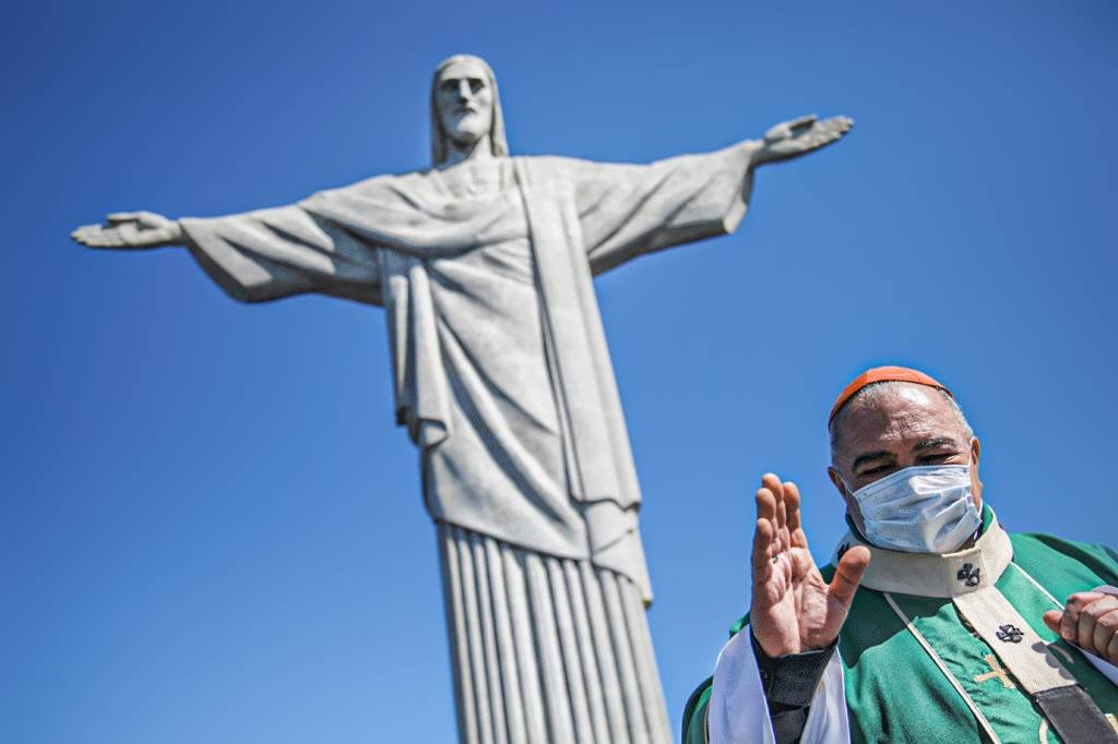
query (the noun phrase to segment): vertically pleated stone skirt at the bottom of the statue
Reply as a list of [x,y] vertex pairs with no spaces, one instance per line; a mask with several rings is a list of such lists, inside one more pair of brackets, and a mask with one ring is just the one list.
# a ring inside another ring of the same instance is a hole
[[436,524],[462,742],[672,741],[632,581]]

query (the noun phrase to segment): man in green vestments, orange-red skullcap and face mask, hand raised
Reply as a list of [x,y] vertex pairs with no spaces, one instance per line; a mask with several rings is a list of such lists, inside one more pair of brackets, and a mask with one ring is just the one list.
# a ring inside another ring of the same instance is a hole
[[847,535],[817,569],[799,493],[757,492],[752,608],[684,710],[712,742],[1118,742],[1118,553],[1008,534],[954,395],[870,370],[828,421]]

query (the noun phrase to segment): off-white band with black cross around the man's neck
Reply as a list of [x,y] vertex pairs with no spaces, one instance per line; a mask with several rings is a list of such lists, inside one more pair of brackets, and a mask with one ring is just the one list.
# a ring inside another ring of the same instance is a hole
[[870,549],[870,566],[862,585],[879,592],[920,597],[956,597],[993,586],[1013,560],[1010,535],[991,512],[991,522],[974,546],[957,553],[901,553],[870,545],[854,531],[847,532],[831,562],[854,545]]

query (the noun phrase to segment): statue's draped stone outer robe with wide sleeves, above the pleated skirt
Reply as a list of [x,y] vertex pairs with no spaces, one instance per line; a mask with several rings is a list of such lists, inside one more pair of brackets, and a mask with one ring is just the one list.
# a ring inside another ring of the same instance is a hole
[[[591,276],[722,235],[750,143],[651,165],[502,158],[372,178],[294,206],[183,219],[234,298],[321,293],[387,312],[397,422],[434,519],[651,588],[641,500]],[[452,183],[454,182],[454,183]]]

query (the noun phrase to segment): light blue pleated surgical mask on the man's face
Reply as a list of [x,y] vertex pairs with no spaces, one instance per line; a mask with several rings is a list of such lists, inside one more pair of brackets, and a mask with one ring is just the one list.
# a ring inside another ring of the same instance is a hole
[[951,553],[982,525],[966,465],[918,465],[853,493],[865,538],[904,553]]

